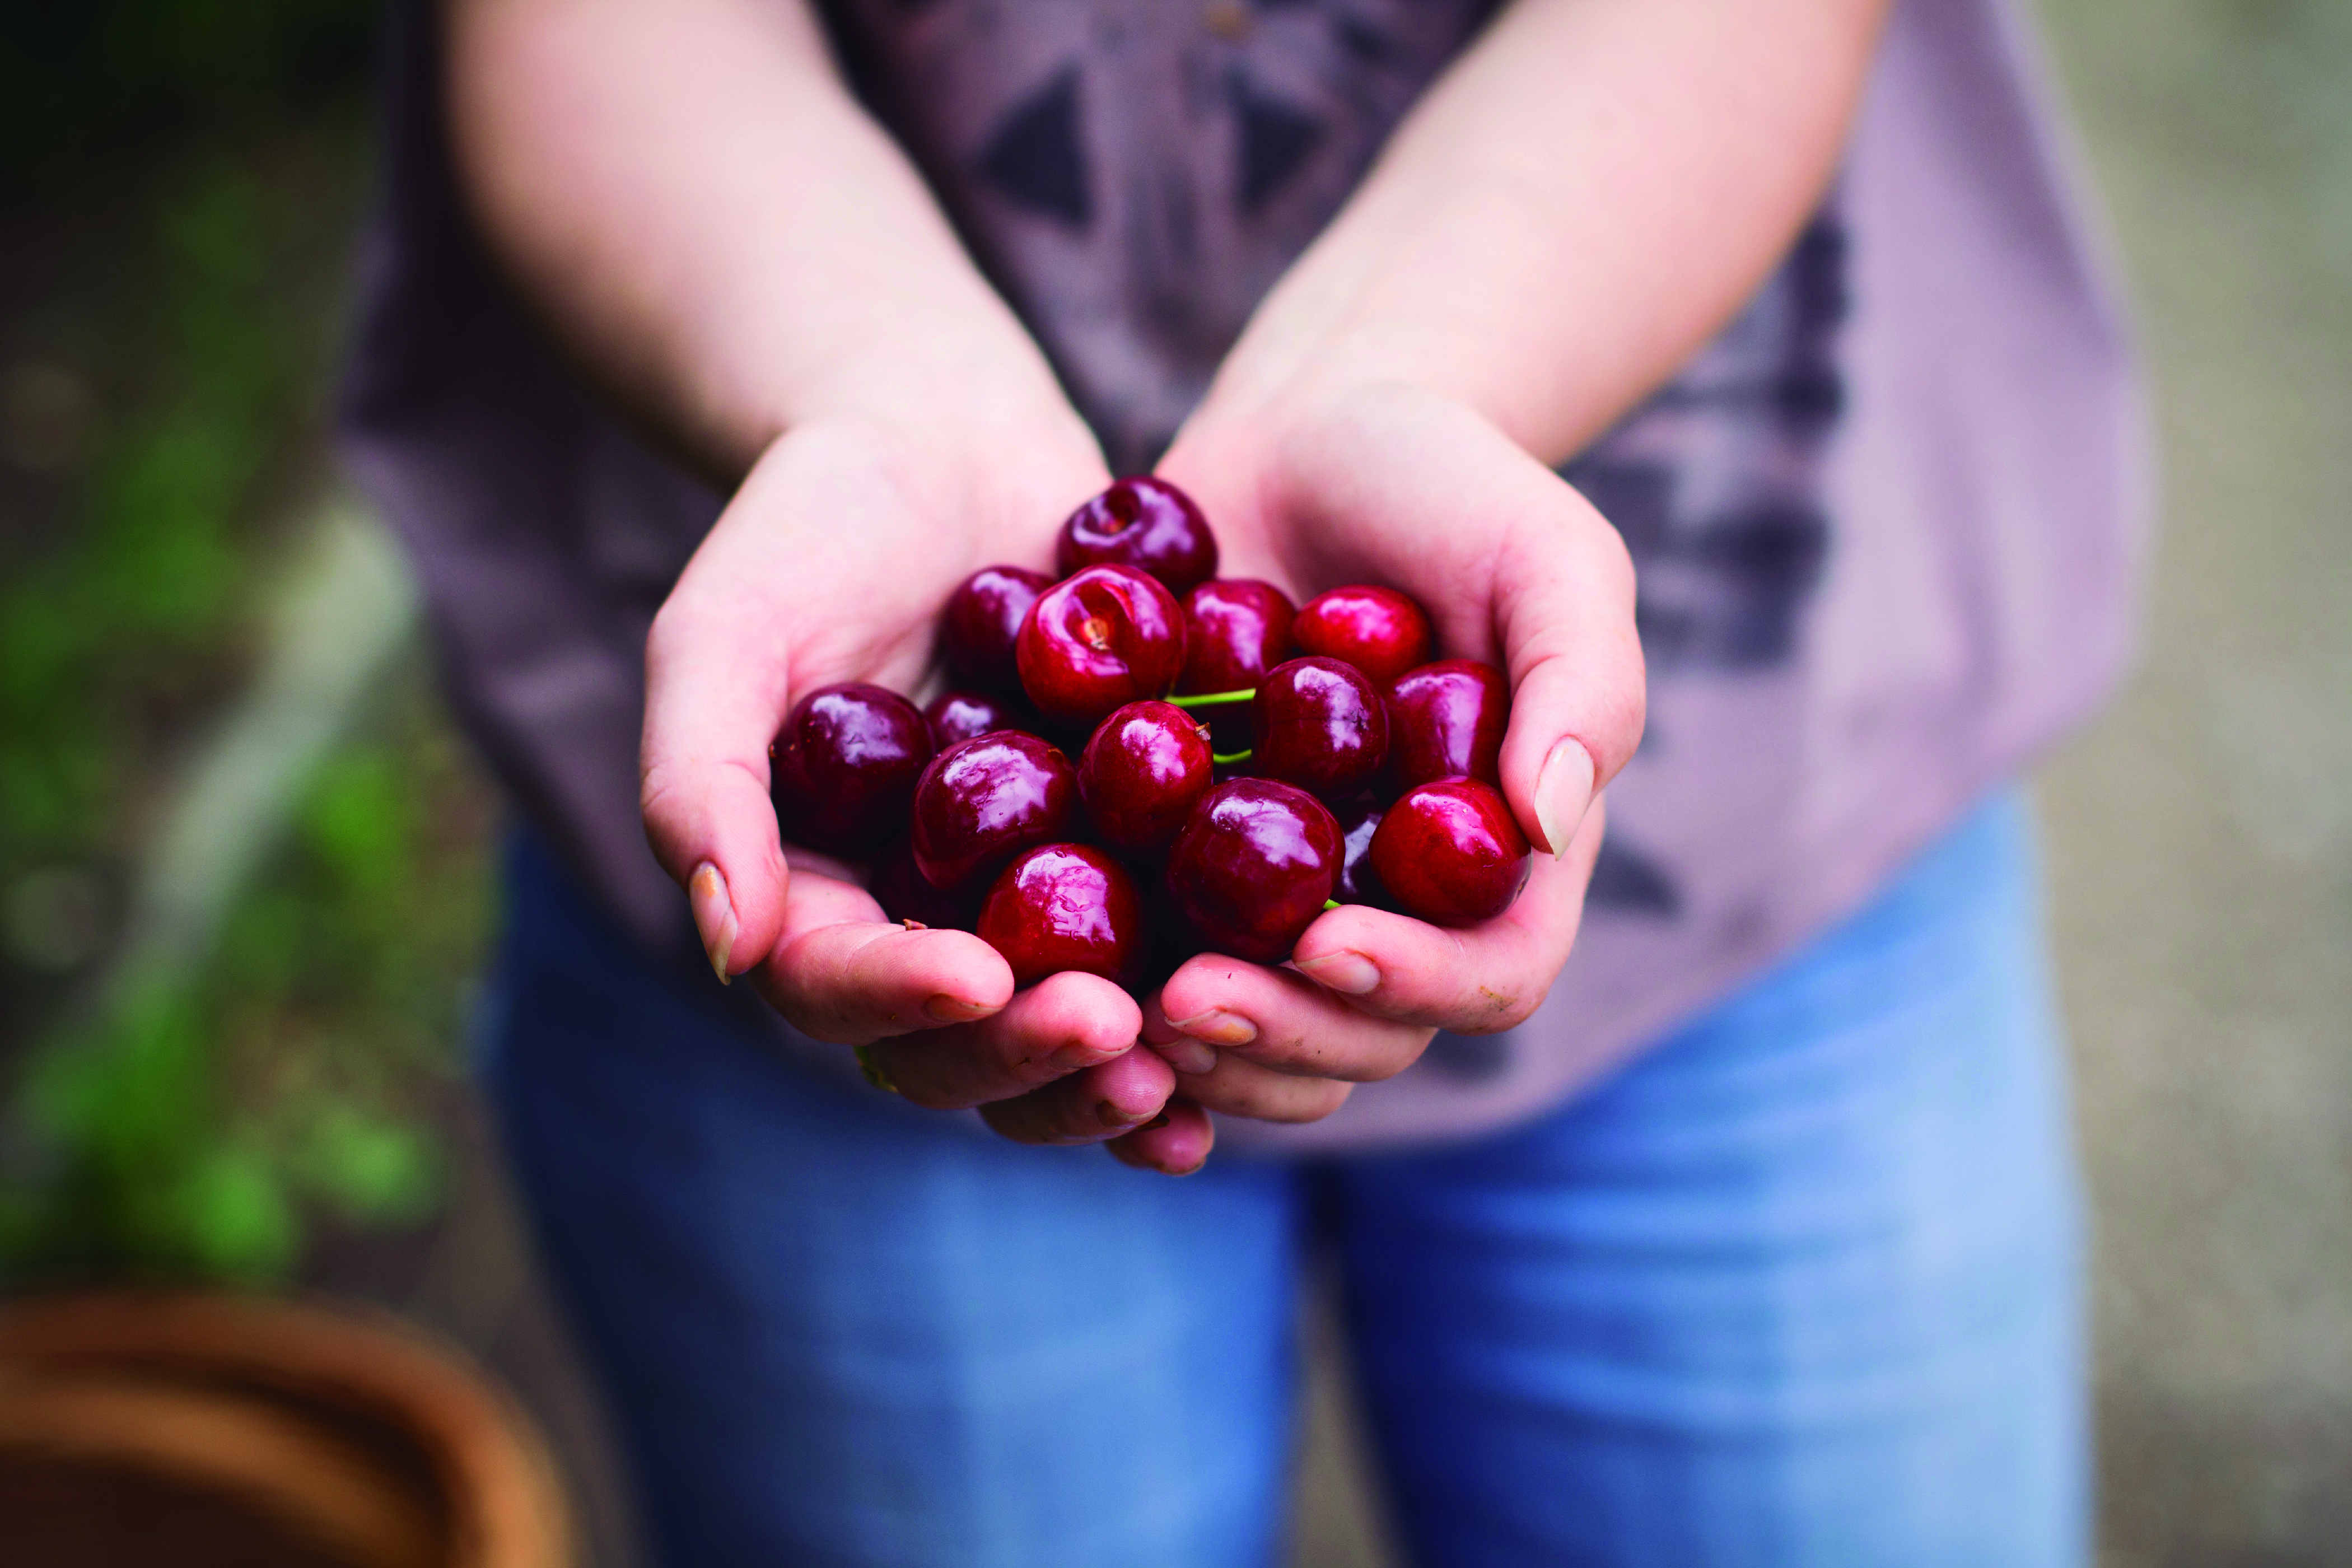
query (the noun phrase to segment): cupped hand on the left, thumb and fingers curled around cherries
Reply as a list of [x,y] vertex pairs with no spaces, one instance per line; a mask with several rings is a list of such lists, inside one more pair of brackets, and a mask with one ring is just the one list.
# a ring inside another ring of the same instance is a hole
[[[866,1046],[913,1103],[981,1107],[1018,1143],[1101,1143],[1150,1124],[1174,1072],[1136,1048],[1136,1001],[1063,973],[1018,997],[969,931],[889,922],[851,867],[786,851],[769,743],[802,693],[913,693],[948,592],[993,562],[1047,564],[1054,524],[1108,482],[1075,416],[964,437],[941,421],[811,421],[753,465],[647,639],[644,832],[687,889],[722,978],[804,1034]],[[788,858],[790,856],[790,858]],[[1190,1168],[1188,1128],[1155,1138]]]

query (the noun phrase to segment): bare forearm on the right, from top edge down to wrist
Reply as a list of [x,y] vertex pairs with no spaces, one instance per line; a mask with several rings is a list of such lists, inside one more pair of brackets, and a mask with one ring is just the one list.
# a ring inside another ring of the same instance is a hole
[[1202,421],[1411,383],[1559,461],[1755,292],[1820,200],[1886,0],[1519,0],[1265,299]]

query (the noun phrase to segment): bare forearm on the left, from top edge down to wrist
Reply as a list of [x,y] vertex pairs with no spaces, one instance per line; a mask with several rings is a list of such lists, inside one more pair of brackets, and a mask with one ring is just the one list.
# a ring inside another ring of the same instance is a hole
[[811,418],[943,402],[1087,444],[802,5],[449,0],[447,19],[456,160],[494,249],[715,477]]

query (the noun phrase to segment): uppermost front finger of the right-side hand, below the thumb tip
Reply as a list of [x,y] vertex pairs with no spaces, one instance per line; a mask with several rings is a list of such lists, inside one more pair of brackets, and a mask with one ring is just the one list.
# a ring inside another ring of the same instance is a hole
[[1456,1034],[1526,1020],[1576,943],[1606,811],[1585,816],[1562,860],[1536,856],[1526,891],[1479,926],[1430,926],[1367,905],[1322,914],[1298,938],[1298,973],[1374,1018]]

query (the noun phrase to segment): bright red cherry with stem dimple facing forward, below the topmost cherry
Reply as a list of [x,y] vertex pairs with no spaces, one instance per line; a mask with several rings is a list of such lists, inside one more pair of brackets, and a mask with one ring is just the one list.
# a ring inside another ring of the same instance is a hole
[[1087,567],[1037,595],[1016,651],[1021,686],[1042,715],[1094,724],[1176,682],[1183,609],[1134,567]]

